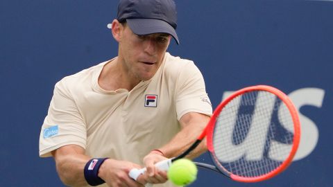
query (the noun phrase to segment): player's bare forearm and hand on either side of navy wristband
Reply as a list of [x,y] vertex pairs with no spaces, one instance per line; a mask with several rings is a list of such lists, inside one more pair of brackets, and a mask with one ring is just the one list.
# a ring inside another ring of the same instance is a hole
[[[56,161],[56,168],[61,181],[67,186],[86,186],[84,176],[85,164],[92,158],[84,154],[85,150],[78,145],[65,145],[52,152]],[[135,163],[106,159],[99,168],[99,177],[109,186],[117,187],[143,186],[128,177],[128,172],[139,168]]]

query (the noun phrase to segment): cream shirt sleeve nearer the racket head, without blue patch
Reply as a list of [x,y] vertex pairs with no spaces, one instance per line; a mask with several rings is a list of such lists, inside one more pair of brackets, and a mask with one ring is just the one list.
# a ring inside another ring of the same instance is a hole
[[176,84],[178,120],[188,112],[212,115],[212,104],[205,89],[203,75],[193,62],[188,62],[182,67]]

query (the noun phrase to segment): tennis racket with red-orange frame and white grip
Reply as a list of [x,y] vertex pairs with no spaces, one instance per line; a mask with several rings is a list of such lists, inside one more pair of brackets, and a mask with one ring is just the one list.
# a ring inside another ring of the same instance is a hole
[[[298,149],[300,121],[291,100],[282,91],[258,85],[234,92],[216,107],[205,130],[188,150],[155,164],[168,170],[173,161],[187,156],[207,136],[214,166],[198,163],[241,182],[270,179],[285,170]],[[146,168],[131,170],[137,179]]]

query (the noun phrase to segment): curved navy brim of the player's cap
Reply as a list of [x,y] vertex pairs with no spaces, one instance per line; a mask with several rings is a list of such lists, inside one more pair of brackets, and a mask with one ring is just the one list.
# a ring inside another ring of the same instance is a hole
[[137,35],[150,35],[153,33],[168,33],[179,44],[176,30],[167,22],[160,19],[126,19],[128,26]]

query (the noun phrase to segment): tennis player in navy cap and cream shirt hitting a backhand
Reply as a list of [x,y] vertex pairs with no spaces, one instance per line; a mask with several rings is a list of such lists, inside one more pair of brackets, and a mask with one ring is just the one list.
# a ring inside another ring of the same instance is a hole
[[[194,62],[167,53],[171,38],[179,44],[176,19],[173,0],[121,0],[117,57],[56,83],[40,157],[55,159],[65,185],[172,186],[153,164],[186,150],[212,114]],[[142,167],[137,181],[128,177]]]

